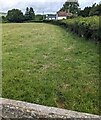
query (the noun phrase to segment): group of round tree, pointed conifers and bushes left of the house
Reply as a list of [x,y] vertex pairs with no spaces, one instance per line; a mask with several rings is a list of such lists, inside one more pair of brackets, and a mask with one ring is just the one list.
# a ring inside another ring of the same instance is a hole
[[24,22],[30,20],[42,20],[43,15],[35,15],[32,7],[26,8],[25,14],[19,9],[12,9],[7,12],[7,16],[2,16],[2,20],[6,22]]

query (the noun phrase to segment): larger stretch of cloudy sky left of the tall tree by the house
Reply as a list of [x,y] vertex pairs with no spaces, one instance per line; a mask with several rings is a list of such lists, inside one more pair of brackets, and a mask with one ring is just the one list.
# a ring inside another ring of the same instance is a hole
[[7,12],[9,9],[18,8],[23,12],[26,7],[33,7],[36,12],[56,12],[66,0],[0,0],[0,11]]

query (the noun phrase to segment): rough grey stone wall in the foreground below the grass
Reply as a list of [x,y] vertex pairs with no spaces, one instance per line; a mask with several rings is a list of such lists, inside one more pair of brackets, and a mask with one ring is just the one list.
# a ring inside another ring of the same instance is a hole
[[101,116],[71,110],[47,107],[22,101],[0,99],[0,117],[2,120],[101,120]]

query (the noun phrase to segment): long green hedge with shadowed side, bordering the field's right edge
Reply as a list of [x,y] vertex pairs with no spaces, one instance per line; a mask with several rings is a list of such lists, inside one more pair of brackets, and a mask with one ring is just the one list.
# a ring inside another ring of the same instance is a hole
[[99,16],[77,17],[66,20],[47,20],[44,22],[62,25],[81,37],[101,41]]

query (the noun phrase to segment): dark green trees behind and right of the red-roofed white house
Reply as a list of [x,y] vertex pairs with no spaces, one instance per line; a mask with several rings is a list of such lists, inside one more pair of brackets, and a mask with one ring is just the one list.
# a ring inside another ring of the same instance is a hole
[[94,3],[91,7],[85,7],[83,10],[79,7],[79,3],[77,0],[67,0],[63,7],[59,11],[66,11],[72,13],[73,16],[82,16],[82,17],[89,17],[89,16],[100,16],[101,15],[101,3],[96,4]]

